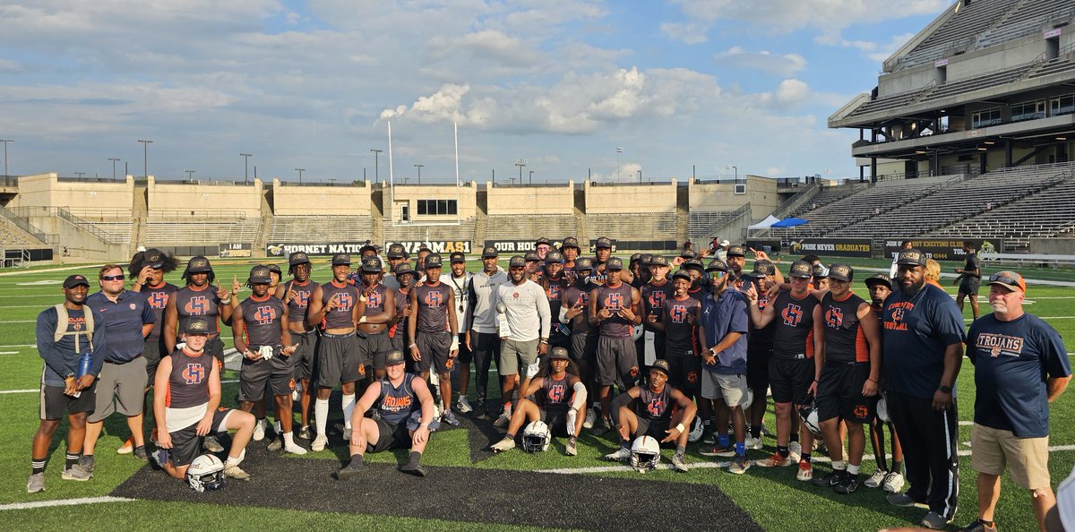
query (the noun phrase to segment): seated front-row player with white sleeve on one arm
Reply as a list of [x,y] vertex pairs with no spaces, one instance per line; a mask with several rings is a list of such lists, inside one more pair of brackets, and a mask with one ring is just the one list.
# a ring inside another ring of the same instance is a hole
[[[548,375],[531,380],[524,393],[524,397],[529,397],[541,391],[542,405],[538,406],[538,403],[529,399],[520,399],[507,423],[507,434],[490,447],[493,452],[514,448],[515,434],[522,428],[522,423],[540,420],[553,433],[568,436],[568,456],[578,454],[576,437],[586,416],[586,386],[577,376],[568,374],[568,349],[554,347],[551,353]],[[569,390],[573,391],[569,394]]]

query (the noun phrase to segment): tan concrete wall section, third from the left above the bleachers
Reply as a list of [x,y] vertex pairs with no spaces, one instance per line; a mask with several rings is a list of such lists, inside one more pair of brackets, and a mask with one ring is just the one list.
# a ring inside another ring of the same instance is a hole
[[311,186],[282,185],[272,181],[273,214],[288,215],[370,215],[372,186]]

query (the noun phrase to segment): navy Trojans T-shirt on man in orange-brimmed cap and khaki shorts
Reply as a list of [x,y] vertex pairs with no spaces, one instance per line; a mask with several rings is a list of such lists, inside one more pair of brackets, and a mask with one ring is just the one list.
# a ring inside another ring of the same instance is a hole
[[974,364],[974,422],[1018,437],[1049,435],[1045,380],[1072,374],[1056,329],[1030,314],[1012,321],[987,314],[971,325],[966,357]]

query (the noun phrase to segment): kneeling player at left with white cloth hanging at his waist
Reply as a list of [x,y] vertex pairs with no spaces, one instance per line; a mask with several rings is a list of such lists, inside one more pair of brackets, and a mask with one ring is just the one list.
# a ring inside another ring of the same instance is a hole
[[186,345],[171,357],[160,359],[154,382],[153,414],[157,418],[157,463],[175,478],[185,479],[187,468],[198,456],[199,440],[211,432],[234,430],[231,450],[224,462],[224,474],[249,480],[239,469],[246,455],[246,443],[254,434],[254,415],[220,404],[220,369],[205,350],[210,321],[203,317],[187,320],[183,334]]

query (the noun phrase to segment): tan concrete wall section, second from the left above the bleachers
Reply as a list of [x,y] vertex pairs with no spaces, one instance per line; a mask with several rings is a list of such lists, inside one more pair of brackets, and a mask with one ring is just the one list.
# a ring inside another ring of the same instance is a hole
[[[254,179],[253,185],[233,185],[231,182],[190,184],[158,182],[150,175],[147,188],[149,213],[154,218],[261,216],[261,179]],[[195,214],[191,215],[191,212]]]

